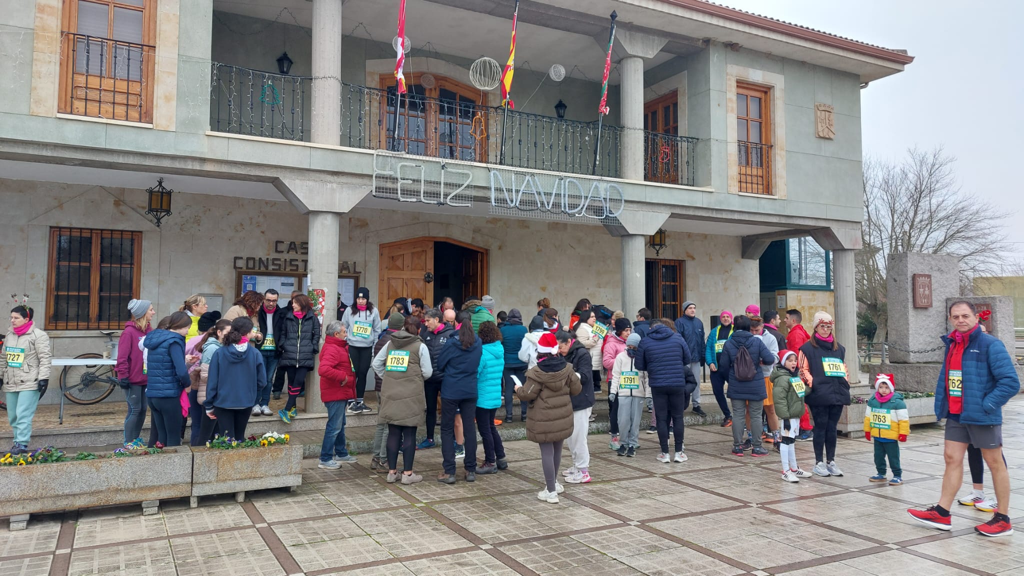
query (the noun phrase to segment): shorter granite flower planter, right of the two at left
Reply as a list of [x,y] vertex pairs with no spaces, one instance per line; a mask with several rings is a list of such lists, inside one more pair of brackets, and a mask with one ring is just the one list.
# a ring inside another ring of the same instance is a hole
[[193,450],[193,507],[200,496],[234,492],[243,501],[248,490],[292,488],[302,484],[302,445],[282,444],[233,450],[205,446]]

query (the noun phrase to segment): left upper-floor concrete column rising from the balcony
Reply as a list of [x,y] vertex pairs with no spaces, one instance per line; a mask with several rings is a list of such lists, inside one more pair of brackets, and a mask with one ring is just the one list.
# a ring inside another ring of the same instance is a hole
[[312,74],[317,80],[313,81],[310,139],[335,146],[341,144],[341,2],[313,0]]

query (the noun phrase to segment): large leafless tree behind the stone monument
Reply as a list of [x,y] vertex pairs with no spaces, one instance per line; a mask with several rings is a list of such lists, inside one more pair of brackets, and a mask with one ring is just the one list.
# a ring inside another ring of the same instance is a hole
[[1010,264],[1004,231],[1012,214],[961,190],[955,160],[941,146],[907,150],[900,162],[864,161],[864,248],[857,253],[857,301],[886,339],[886,261],[891,254],[948,254],[961,259],[962,286]]

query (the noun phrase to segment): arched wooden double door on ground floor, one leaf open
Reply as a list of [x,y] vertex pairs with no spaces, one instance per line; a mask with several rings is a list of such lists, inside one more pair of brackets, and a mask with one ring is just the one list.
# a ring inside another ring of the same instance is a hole
[[[442,258],[457,258],[461,262],[441,262],[442,267],[452,266],[461,270],[453,300],[461,304],[469,296],[481,297],[487,290],[487,252],[483,249],[441,237],[423,237],[380,246],[379,278],[381,308],[387,308],[396,298],[420,298],[428,306],[434,306],[435,246],[455,245],[463,250],[453,255],[450,250],[439,251]],[[429,275],[428,275],[429,274]],[[427,281],[430,278],[431,281]],[[453,293],[446,285],[441,286],[445,296]]]

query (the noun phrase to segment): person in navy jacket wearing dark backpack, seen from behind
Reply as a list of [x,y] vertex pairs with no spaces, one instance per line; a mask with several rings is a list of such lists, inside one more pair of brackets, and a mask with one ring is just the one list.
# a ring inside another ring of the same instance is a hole
[[[733,324],[735,329],[722,346],[722,353],[718,356],[718,371],[729,383],[726,397],[732,403],[732,414],[736,418],[736,424],[732,427],[732,455],[743,455],[743,427],[740,425],[750,412],[751,455],[767,456],[768,450],[761,446],[761,410],[764,408],[765,398],[768,397],[765,379],[761,375],[761,365],[774,364],[776,358],[760,337],[751,334],[749,316],[736,316]],[[749,374],[751,378],[743,378],[744,374],[739,373],[741,370],[736,365],[740,348],[746,350],[753,362],[754,371]]]

